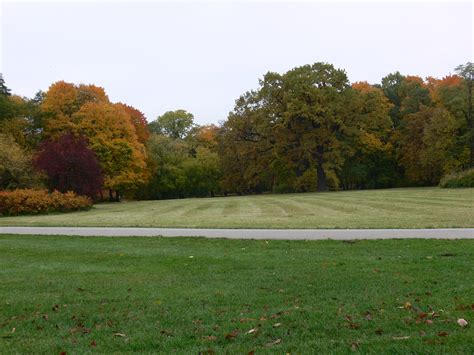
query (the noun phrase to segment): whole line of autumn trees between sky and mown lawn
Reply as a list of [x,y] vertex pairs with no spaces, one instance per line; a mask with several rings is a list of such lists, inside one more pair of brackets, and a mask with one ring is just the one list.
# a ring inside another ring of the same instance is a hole
[[474,166],[473,76],[472,63],[375,85],[326,63],[269,72],[218,126],[184,110],[147,123],[94,85],[28,99],[0,78],[0,189],[118,200],[436,185]]

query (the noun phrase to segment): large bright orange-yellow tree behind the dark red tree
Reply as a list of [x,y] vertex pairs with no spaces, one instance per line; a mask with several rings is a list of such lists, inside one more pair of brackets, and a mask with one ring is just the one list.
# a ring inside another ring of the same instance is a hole
[[138,110],[111,103],[100,87],[63,81],[50,86],[41,109],[45,138],[72,133],[87,139],[99,160],[111,200],[112,190],[119,200],[120,191],[135,189],[146,181],[145,147],[130,115],[137,115]]

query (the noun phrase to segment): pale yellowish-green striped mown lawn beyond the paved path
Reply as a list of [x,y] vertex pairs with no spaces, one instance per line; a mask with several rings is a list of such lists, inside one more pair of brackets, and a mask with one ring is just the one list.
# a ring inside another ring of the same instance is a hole
[[99,204],[1,217],[0,226],[201,228],[474,227],[474,189],[407,188]]

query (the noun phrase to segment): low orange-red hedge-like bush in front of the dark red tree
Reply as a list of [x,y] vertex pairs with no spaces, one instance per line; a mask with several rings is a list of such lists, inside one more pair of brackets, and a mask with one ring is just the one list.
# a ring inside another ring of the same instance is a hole
[[17,189],[0,191],[0,215],[42,214],[49,212],[71,212],[87,210],[92,200],[74,192],[61,193],[47,190]]

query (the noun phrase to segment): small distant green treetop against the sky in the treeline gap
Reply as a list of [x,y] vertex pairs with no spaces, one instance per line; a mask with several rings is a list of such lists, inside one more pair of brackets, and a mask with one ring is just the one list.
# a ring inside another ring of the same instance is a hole
[[149,124],[153,133],[184,139],[194,127],[194,116],[186,110],[168,111]]

